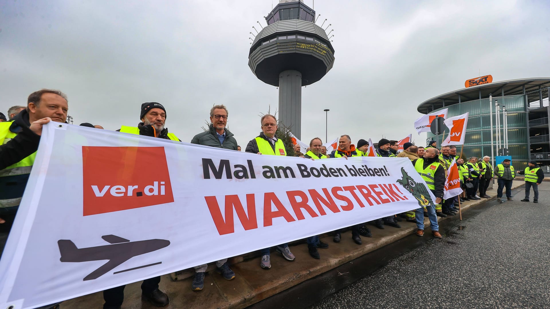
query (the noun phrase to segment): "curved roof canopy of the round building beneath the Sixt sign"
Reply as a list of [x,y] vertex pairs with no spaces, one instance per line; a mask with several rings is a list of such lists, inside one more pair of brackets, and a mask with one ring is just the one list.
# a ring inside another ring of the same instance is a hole
[[467,87],[443,93],[443,95],[433,97],[430,100],[426,100],[417,107],[417,111],[422,114],[427,114],[436,109],[443,108],[452,104],[457,104],[459,102],[467,102],[472,100],[479,100],[480,98],[488,98],[490,94],[497,97],[503,95],[522,95],[524,94],[524,86],[525,93],[536,91],[541,88],[544,89],[550,87],[550,78],[512,79]]

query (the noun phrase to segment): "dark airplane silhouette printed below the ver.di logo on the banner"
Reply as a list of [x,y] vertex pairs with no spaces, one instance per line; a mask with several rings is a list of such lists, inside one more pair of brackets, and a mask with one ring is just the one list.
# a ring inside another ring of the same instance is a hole
[[[129,241],[115,235],[104,235],[101,238],[111,245],[88,247],[78,249],[73,241],[67,239],[60,239],[57,241],[59,246],[59,253],[61,253],[61,262],[88,262],[88,261],[101,261],[109,260],[95,271],[84,277],[86,280],[94,280],[120,264],[130,260],[134,256],[142,255],[145,253],[153,252],[170,245],[170,241],[165,239],[148,239],[140,241]],[[121,273],[125,271],[133,271],[143,267],[149,267],[160,264],[157,262],[140,267],[125,269],[124,271],[116,272]]]

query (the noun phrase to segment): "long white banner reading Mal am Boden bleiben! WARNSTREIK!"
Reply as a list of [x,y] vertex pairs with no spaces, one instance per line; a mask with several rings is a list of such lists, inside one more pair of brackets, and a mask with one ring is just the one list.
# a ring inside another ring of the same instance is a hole
[[408,158],[312,161],[50,123],[0,260],[0,308],[48,305],[433,200]]

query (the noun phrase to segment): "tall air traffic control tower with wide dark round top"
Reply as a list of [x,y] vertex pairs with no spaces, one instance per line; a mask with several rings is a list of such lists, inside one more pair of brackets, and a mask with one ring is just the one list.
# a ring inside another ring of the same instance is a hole
[[266,84],[279,87],[278,117],[301,139],[302,86],[323,78],[334,63],[326,31],[301,0],[281,0],[252,42],[248,65]]

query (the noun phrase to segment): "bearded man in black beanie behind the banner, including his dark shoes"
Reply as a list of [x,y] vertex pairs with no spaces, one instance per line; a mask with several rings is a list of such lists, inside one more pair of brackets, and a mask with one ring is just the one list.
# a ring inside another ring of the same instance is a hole
[[[161,103],[147,102],[141,104],[140,111],[141,123],[137,127],[123,125],[119,130],[123,133],[145,135],[151,137],[159,137],[161,139],[180,141],[173,133],[168,133],[168,129],[164,128],[166,122],[166,109]],[[154,172],[155,165],[151,164],[147,167]],[[161,277],[153,277],[143,280],[141,284],[141,298],[149,301],[153,306],[163,307],[169,304],[168,295],[158,289],[158,284],[161,282]],[[103,291],[103,309],[120,308],[124,301],[124,288],[126,285],[117,286],[116,288]]]

